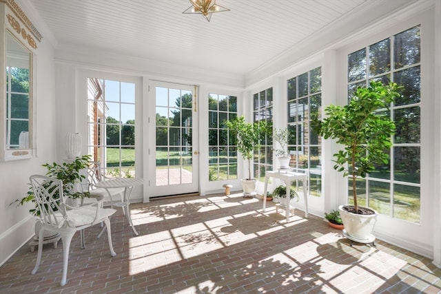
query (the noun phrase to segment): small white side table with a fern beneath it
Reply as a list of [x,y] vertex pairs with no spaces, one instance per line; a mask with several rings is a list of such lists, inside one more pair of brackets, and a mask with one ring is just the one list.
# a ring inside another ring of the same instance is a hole
[[[268,180],[269,178],[278,178],[285,182],[287,185],[287,207],[285,209],[287,222],[289,222],[289,189],[291,188],[291,182],[293,180],[301,180],[303,183],[303,198],[305,200],[305,218],[308,217],[308,195],[307,195],[307,175],[301,173],[294,173],[291,171],[267,171],[265,173],[265,188],[263,189],[263,211],[265,212],[265,207],[267,205],[267,191],[268,191]],[[293,213],[294,214],[294,213]]]

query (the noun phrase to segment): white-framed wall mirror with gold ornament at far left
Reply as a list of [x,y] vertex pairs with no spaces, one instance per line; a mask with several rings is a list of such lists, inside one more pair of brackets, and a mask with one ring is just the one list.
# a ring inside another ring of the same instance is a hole
[[35,52],[41,35],[14,0],[0,0],[0,160],[35,154],[33,132]]

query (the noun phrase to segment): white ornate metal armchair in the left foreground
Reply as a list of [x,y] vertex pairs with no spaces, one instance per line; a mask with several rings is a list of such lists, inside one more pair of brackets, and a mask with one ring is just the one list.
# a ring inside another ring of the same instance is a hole
[[70,242],[76,231],[81,231],[94,224],[104,222],[107,228],[107,242],[109,243],[110,254],[112,256],[116,255],[112,245],[109,219],[116,212],[115,209],[103,209],[101,201],[82,207],[71,207],[65,204],[66,197],[63,195],[63,182],[56,178],[33,175],[30,176],[30,183],[41,221],[37,262],[32,270],[32,275],[37,273],[41,262],[44,231],[59,233],[63,240],[63,276],[61,277],[61,286],[66,284]]

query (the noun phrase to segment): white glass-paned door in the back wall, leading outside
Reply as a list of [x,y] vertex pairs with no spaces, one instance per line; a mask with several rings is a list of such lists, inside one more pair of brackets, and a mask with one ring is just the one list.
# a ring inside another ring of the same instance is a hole
[[150,196],[198,191],[198,123],[194,87],[150,81]]

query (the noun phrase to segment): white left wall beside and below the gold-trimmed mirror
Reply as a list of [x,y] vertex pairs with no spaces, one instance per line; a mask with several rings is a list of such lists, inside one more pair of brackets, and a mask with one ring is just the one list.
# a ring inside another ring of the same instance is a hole
[[46,170],[41,165],[57,158],[56,115],[59,108],[54,96],[54,48],[44,38],[37,45],[37,74],[34,76],[37,92],[33,98],[33,107],[37,110],[34,125],[37,157],[0,162],[0,265],[33,235],[34,220],[28,213],[32,204],[17,207],[10,203],[28,192],[30,175],[45,174]]

